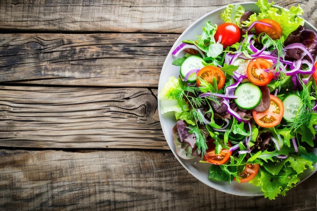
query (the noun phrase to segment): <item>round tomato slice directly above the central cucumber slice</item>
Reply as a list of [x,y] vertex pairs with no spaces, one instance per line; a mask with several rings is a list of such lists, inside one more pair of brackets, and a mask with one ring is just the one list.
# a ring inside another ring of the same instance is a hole
[[250,61],[247,67],[247,77],[257,86],[267,85],[273,78],[272,72],[266,72],[265,69],[272,67],[272,63],[266,59],[257,58]]

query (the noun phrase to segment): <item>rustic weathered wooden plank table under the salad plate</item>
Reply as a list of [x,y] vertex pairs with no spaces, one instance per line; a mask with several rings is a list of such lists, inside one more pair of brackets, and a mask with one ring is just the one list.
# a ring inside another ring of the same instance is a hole
[[[1,1],[0,209],[316,210],[316,174],[273,201],[233,196],[169,150],[164,60],[184,29],[229,3]],[[314,1],[275,2],[298,3],[317,26]]]

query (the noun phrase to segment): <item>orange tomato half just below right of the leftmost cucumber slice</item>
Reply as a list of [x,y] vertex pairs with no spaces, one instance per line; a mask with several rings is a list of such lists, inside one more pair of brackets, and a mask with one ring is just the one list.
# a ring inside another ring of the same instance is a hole
[[224,73],[218,67],[211,65],[205,66],[197,72],[197,86],[201,85],[200,78],[206,80],[211,84],[213,84],[213,79],[216,78],[218,90],[220,90],[223,87],[225,82]]

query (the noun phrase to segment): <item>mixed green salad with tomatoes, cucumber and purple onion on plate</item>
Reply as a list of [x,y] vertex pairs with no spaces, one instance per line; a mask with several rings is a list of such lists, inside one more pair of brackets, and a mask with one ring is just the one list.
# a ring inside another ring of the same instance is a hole
[[228,5],[222,24],[183,40],[172,53],[179,77],[159,99],[162,113],[175,113],[181,158],[200,157],[210,180],[248,182],[275,199],[317,162],[317,34],[300,5],[255,5],[258,13]]

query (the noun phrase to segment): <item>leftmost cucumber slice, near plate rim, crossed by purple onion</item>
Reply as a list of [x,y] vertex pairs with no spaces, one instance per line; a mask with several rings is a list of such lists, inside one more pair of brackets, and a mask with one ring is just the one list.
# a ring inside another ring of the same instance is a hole
[[[203,65],[203,58],[192,55],[187,57],[185,61],[180,66],[180,75],[184,79],[186,74],[193,69],[202,69],[204,67]],[[194,83],[196,82],[196,74],[192,73],[189,75],[187,82]]]

